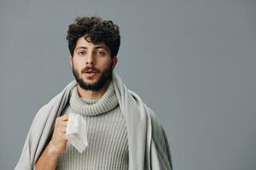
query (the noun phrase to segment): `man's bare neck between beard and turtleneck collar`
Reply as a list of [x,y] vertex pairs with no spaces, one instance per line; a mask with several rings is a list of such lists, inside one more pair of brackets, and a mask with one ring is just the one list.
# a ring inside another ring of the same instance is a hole
[[79,97],[87,98],[87,99],[100,99],[102,97],[102,95],[105,94],[106,90],[108,89],[109,82],[110,81],[108,80],[108,82],[98,91],[83,89],[78,84]]

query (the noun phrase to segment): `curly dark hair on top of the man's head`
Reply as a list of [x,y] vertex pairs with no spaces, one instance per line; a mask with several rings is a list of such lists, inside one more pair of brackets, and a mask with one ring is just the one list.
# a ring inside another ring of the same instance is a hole
[[[112,20],[102,20],[100,17],[77,17],[73,24],[68,26],[67,41],[70,54],[73,56],[74,48],[79,37],[95,44],[105,42],[110,50],[111,57],[116,56],[120,46],[119,26]],[[88,40],[90,37],[90,41]]]

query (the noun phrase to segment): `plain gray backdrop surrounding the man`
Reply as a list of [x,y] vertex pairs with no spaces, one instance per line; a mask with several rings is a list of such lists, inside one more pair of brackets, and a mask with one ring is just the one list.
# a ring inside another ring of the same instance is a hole
[[119,76],[160,118],[176,170],[255,170],[256,2],[1,1],[1,169],[36,112],[73,80],[65,39],[79,15],[120,27]]

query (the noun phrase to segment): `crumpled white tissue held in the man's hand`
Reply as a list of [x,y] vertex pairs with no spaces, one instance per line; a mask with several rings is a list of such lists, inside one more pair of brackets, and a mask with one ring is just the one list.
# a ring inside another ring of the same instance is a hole
[[84,117],[70,112],[67,122],[67,141],[82,153],[88,146],[86,122]]

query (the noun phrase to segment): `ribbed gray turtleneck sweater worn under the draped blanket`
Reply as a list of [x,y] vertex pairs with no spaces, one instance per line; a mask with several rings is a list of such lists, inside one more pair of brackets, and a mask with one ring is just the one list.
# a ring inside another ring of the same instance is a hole
[[128,139],[125,117],[120,111],[113,82],[100,99],[80,98],[77,86],[73,88],[69,104],[63,114],[70,111],[84,116],[88,146],[82,154],[67,142],[59,156],[57,170],[128,170]]

